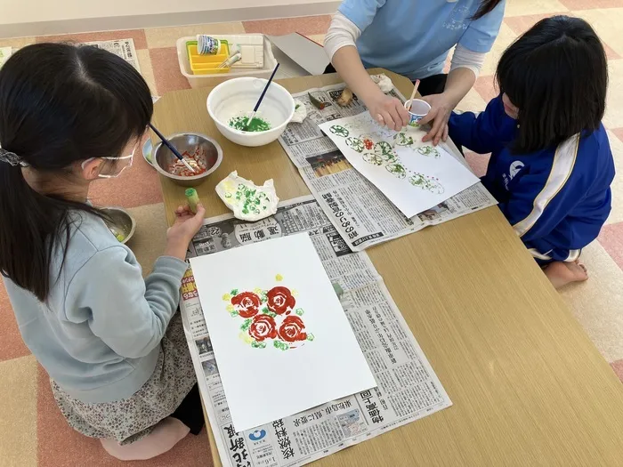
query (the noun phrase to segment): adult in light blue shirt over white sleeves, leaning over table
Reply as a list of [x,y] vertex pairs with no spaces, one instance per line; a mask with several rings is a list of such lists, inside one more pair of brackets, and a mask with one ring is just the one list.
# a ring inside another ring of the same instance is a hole
[[344,0],[325,39],[332,63],[327,72],[337,71],[372,117],[394,130],[407,125],[409,113],[379,90],[365,68],[420,79],[419,92],[432,107],[422,123],[433,122],[424,141],[437,144],[448,138],[450,112],[475,83],[505,6],[506,0]]

